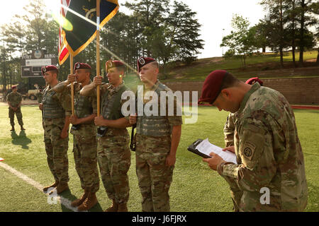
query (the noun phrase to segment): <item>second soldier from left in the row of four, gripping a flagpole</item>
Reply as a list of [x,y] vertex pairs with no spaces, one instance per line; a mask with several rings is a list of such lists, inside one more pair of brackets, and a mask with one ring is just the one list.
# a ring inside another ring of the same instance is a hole
[[[77,62],[74,64],[74,73],[69,74],[67,81],[55,85],[52,90],[62,93],[71,91],[74,85],[74,115],[69,119],[73,124],[70,133],[73,134],[73,153],[75,169],[79,175],[84,194],[74,200],[71,206],[78,206],[79,211],[89,210],[96,205],[96,192],[99,191],[99,172],[96,159],[96,98],[79,95],[84,85],[89,85],[91,66]],[[77,80],[77,82],[74,82]]]

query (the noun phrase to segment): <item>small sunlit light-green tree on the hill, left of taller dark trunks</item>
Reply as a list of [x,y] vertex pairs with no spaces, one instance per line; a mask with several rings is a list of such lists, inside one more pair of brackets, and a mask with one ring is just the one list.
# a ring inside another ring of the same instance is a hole
[[249,25],[247,18],[235,14],[232,19],[233,30],[230,35],[223,37],[223,42],[220,44],[220,47],[229,47],[235,52],[235,56],[242,59],[243,67],[246,67],[247,56],[257,49],[254,44],[256,32],[254,29],[249,29]]

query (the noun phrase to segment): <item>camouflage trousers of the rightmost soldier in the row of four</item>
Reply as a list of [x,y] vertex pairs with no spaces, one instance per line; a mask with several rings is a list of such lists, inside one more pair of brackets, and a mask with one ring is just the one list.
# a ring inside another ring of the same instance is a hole
[[169,212],[169,187],[174,166],[167,167],[171,137],[136,136],[136,174],[143,212]]

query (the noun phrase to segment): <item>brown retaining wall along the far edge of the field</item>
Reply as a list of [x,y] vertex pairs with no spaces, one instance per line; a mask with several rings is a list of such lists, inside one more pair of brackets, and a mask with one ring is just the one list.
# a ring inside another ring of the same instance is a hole
[[[264,86],[278,90],[291,105],[319,105],[319,78],[262,79]],[[164,83],[173,91],[198,91],[203,82]],[[191,93],[190,93],[191,96]]]

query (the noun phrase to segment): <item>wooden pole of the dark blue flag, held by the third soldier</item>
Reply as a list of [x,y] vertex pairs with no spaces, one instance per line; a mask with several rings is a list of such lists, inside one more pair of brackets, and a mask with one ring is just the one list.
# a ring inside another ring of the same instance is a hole
[[[100,76],[100,0],[96,0],[96,76]],[[97,116],[100,116],[100,85],[96,87]]]

